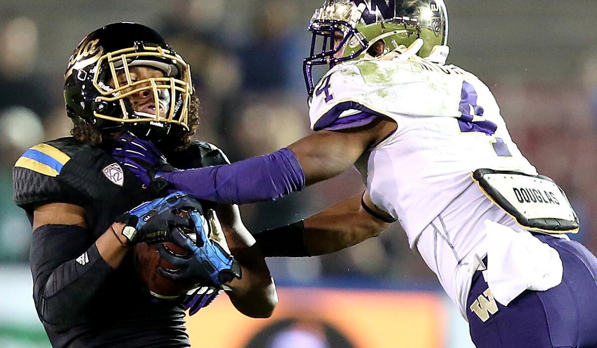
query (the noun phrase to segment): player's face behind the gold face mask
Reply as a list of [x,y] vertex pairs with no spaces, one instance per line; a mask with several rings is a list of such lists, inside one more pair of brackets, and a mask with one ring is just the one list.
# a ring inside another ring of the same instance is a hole
[[[143,79],[149,79],[149,78],[163,78],[164,72],[162,72],[162,70],[159,69],[155,69],[154,67],[149,67],[149,66],[132,66],[129,68],[129,73],[131,76],[131,83],[134,83],[136,81],[140,81]],[[120,70],[116,76],[118,76],[118,85],[123,86],[123,85],[127,85],[127,76],[125,75],[123,70]],[[161,84],[162,82],[156,82],[156,84]],[[110,81],[110,85],[113,86],[112,81]],[[141,84],[141,85],[135,85],[134,87],[130,87],[127,88],[125,90],[122,91],[122,93],[128,93],[129,91],[132,91],[133,89],[136,88],[142,88],[142,87],[147,87],[149,86],[149,82],[146,82],[145,84]],[[165,91],[165,90],[160,90],[160,91]],[[167,92],[165,92],[167,93]],[[153,97],[153,92],[151,89],[148,90],[143,90],[143,91],[139,91],[137,93],[131,94],[130,96],[128,96],[128,100],[131,102],[131,106],[133,107],[133,110],[137,111],[137,112],[144,112],[144,113],[150,113],[151,115],[155,115],[155,98]],[[161,98],[160,98],[161,100]],[[169,102],[169,98],[168,98],[168,102]],[[164,105],[162,105],[162,103],[159,103],[159,108],[160,108],[160,113],[161,115],[164,115],[164,113],[166,112],[166,108],[164,107]]]

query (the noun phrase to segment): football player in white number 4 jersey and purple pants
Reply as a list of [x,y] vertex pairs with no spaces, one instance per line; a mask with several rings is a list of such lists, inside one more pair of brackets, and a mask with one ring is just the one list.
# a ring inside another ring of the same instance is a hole
[[[578,230],[576,214],[513,143],[491,91],[445,64],[444,1],[327,0],[309,30],[314,134],[269,155],[153,180],[244,204],[355,165],[362,197],[257,234],[264,255],[337,251],[399,220],[478,347],[597,346],[597,258],[566,235]],[[314,84],[318,65],[330,70]]]

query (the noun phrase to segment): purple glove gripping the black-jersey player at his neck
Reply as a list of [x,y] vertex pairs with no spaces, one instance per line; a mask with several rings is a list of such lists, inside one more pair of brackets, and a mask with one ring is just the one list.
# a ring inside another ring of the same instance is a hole
[[131,133],[123,133],[115,138],[114,143],[110,155],[132,171],[152,193],[159,196],[161,193],[174,192],[167,189],[167,181],[161,178],[154,180],[156,172],[164,173],[176,168],[168,164],[164,155],[151,141],[137,138]]

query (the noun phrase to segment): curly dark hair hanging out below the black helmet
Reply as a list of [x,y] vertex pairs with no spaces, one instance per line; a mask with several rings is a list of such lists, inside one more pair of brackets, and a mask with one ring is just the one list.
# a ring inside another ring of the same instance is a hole
[[[188,131],[178,133],[176,138],[168,138],[165,141],[159,141],[156,144],[162,150],[179,151],[189,147],[197,128],[199,128],[199,98],[197,96],[190,96],[189,112],[187,113],[187,126]],[[70,135],[76,140],[84,144],[99,145],[106,138],[109,138],[107,134],[102,131],[99,127],[87,122],[76,123]]]

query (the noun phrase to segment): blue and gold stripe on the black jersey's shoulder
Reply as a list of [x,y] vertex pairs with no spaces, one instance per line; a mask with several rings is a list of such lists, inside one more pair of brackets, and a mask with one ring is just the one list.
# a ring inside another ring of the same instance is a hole
[[17,160],[14,167],[27,168],[50,177],[57,177],[70,161],[70,156],[48,144],[38,144],[27,150]]

